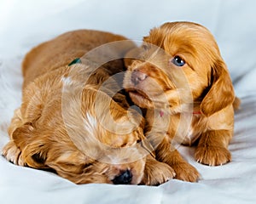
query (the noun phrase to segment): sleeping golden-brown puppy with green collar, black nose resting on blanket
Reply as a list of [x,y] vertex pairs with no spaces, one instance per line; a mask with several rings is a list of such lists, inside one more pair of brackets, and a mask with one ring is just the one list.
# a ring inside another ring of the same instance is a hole
[[[122,93],[111,93],[111,86],[119,86],[112,76],[124,71],[122,58],[133,43],[93,51],[125,39],[71,31],[26,54],[22,105],[3,156],[20,166],[51,169],[76,184],[153,185],[172,178],[172,167],[148,154],[143,117],[125,108]],[[105,63],[104,57],[114,60]]]

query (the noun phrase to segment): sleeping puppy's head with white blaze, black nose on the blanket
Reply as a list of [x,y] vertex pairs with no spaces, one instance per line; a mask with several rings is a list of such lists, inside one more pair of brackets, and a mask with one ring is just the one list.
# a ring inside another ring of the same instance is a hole
[[146,153],[142,116],[90,86],[84,88],[80,105],[78,95],[67,101],[66,113],[60,101],[53,101],[37,122],[15,129],[12,138],[21,159],[28,167],[53,169],[76,184],[139,184]]

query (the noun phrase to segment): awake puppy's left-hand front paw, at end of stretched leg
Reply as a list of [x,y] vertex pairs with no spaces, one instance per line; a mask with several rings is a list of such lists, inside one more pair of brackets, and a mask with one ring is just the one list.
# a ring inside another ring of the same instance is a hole
[[172,165],[176,176],[175,178],[183,181],[196,182],[200,178],[200,173],[195,167],[191,166],[187,162],[178,162]]

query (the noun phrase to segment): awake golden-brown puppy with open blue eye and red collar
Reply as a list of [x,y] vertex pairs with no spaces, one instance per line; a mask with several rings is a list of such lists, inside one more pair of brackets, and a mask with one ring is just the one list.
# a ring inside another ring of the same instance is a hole
[[[227,66],[207,28],[191,22],[166,23],[143,38],[125,61],[124,87],[146,109],[146,137],[156,158],[176,178],[196,181],[199,173],[175,144],[195,144],[195,160],[218,166],[231,160],[228,144],[239,105]],[[161,130],[160,130],[161,129]]]

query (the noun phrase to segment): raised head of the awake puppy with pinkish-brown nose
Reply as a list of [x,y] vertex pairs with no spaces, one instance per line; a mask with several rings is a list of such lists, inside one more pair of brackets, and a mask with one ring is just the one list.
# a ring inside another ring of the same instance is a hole
[[137,105],[164,108],[167,102],[171,111],[181,112],[183,105],[196,103],[211,116],[235,99],[229,72],[207,28],[166,23],[143,41],[139,52],[128,56],[135,60],[129,62],[124,82]]

